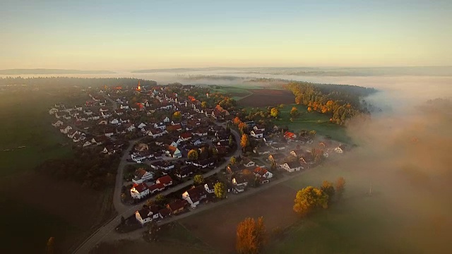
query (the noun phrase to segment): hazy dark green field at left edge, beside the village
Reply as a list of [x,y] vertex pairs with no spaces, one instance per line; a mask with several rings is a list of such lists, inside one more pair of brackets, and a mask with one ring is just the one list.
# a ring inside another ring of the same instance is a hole
[[0,177],[33,169],[46,159],[71,156],[70,140],[51,125],[56,120],[47,112],[55,100],[51,95],[0,96]]

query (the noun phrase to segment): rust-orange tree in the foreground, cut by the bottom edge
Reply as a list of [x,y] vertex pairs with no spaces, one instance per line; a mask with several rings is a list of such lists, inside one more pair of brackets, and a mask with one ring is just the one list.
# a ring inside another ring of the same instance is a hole
[[266,237],[267,232],[263,224],[263,217],[259,217],[257,220],[249,217],[244,219],[237,226],[237,253],[261,253]]

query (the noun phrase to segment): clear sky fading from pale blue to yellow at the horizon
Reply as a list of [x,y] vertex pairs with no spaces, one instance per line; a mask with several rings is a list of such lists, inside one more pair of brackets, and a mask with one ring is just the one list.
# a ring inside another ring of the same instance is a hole
[[0,69],[451,66],[452,1],[1,0]]

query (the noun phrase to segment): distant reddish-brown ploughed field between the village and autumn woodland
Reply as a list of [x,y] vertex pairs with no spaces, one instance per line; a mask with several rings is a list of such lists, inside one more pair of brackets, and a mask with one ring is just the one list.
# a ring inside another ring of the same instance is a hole
[[249,107],[266,107],[276,104],[294,103],[294,95],[282,89],[249,89],[252,95],[239,100],[239,105]]

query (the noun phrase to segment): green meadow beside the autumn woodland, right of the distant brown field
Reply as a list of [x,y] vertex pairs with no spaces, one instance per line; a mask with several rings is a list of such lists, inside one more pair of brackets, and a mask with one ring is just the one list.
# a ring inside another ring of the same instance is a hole
[[[290,110],[292,107],[297,107],[299,116],[290,121]],[[330,116],[321,114],[319,112],[308,112],[307,107],[297,104],[287,104],[280,109],[281,120],[274,120],[273,122],[278,126],[287,126],[291,131],[299,132],[300,130],[315,130],[319,135],[330,135],[333,140],[338,140],[344,143],[350,143],[350,137],[345,132],[345,127],[338,126],[335,123],[330,123]]]

